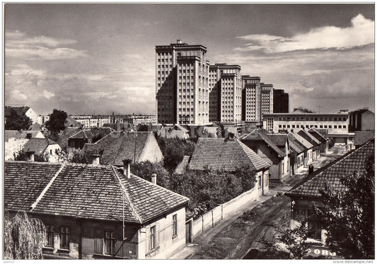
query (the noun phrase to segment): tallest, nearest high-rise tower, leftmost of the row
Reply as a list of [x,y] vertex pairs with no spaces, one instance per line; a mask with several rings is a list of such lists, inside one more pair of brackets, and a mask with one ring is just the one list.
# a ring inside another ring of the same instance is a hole
[[209,123],[207,47],[177,40],[156,46],[156,120],[158,123]]

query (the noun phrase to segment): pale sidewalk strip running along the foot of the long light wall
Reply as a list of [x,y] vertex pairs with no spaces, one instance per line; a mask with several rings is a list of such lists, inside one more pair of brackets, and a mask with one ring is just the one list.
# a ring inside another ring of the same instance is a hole
[[186,259],[191,256],[193,253],[197,251],[197,249],[201,245],[205,245],[211,241],[211,239],[218,234],[222,229],[224,229],[228,224],[234,222],[238,217],[240,217],[243,212],[246,210],[251,210],[257,205],[260,205],[262,202],[269,200],[269,198],[273,197],[277,194],[278,190],[269,190],[265,195],[257,197],[257,200],[253,200],[248,202],[248,204],[240,207],[235,212],[232,212],[227,215],[226,219],[217,223],[213,228],[208,229],[204,233],[198,234],[194,238],[194,243],[189,243],[183,246],[182,248],[178,249],[172,256],[167,256],[167,259]]

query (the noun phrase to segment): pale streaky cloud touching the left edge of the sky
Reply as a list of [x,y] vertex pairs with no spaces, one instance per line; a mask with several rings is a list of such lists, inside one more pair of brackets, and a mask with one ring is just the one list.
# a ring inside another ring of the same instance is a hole
[[17,30],[6,30],[5,58],[54,60],[88,57],[85,50],[59,47],[74,43],[76,40],[56,39],[43,35],[31,38]]

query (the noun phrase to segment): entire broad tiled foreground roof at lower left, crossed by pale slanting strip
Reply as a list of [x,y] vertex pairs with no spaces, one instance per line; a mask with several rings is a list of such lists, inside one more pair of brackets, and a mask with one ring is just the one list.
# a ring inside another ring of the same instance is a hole
[[[187,197],[113,166],[5,161],[4,208],[144,224],[183,207]],[[122,192],[124,191],[124,195]]]

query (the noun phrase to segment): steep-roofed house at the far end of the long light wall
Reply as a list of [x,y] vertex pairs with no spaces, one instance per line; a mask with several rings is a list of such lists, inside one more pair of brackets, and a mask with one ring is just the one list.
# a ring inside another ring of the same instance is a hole
[[285,137],[282,149],[278,147],[267,130],[254,130],[240,136],[240,141],[269,163],[269,180],[282,180],[290,176],[289,144]]

